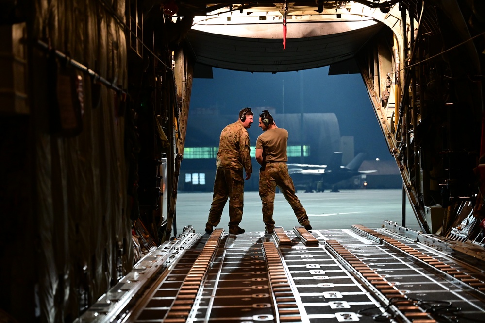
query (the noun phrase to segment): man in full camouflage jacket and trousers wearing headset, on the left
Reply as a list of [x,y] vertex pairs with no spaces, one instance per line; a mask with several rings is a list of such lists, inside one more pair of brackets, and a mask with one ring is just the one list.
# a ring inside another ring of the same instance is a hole
[[205,232],[211,233],[222,216],[222,211],[229,198],[229,233],[244,233],[239,227],[244,206],[243,168],[246,180],[251,177],[252,163],[250,140],[246,129],[254,122],[250,108],[239,111],[239,120],[227,125],[220,134],[219,151],[216,160],[216,178],[209,217]]

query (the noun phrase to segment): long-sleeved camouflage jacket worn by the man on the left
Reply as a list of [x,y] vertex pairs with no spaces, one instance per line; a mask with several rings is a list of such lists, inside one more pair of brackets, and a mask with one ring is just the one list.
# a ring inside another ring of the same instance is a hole
[[249,134],[240,121],[227,125],[220,133],[217,167],[252,173]]

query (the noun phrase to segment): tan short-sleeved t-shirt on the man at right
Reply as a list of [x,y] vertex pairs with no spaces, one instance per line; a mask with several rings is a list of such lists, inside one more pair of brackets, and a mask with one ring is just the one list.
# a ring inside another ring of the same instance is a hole
[[256,149],[263,150],[263,160],[268,162],[286,162],[288,132],[283,128],[270,129],[259,135]]

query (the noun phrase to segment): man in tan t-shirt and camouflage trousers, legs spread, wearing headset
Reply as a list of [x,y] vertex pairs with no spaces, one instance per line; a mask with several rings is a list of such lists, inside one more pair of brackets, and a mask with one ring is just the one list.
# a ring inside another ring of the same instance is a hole
[[259,116],[259,127],[263,133],[256,141],[256,160],[261,164],[259,170],[259,196],[263,204],[263,222],[266,232],[272,233],[274,229],[273,209],[275,189],[278,187],[284,198],[291,205],[298,223],[305,229],[311,230],[303,205],[296,196],[295,185],[288,174],[288,160],[286,154],[288,132],[278,128],[268,110]]

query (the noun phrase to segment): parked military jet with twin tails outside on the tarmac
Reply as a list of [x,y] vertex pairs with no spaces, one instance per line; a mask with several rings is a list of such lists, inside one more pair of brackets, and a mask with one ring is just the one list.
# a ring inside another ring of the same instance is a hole
[[295,186],[304,187],[307,192],[323,192],[326,187],[338,191],[336,183],[353,176],[368,174],[376,170],[359,171],[365,153],[359,153],[347,166],[342,166],[342,152],[335,152],[328,165],[288,164],[288,172]]

